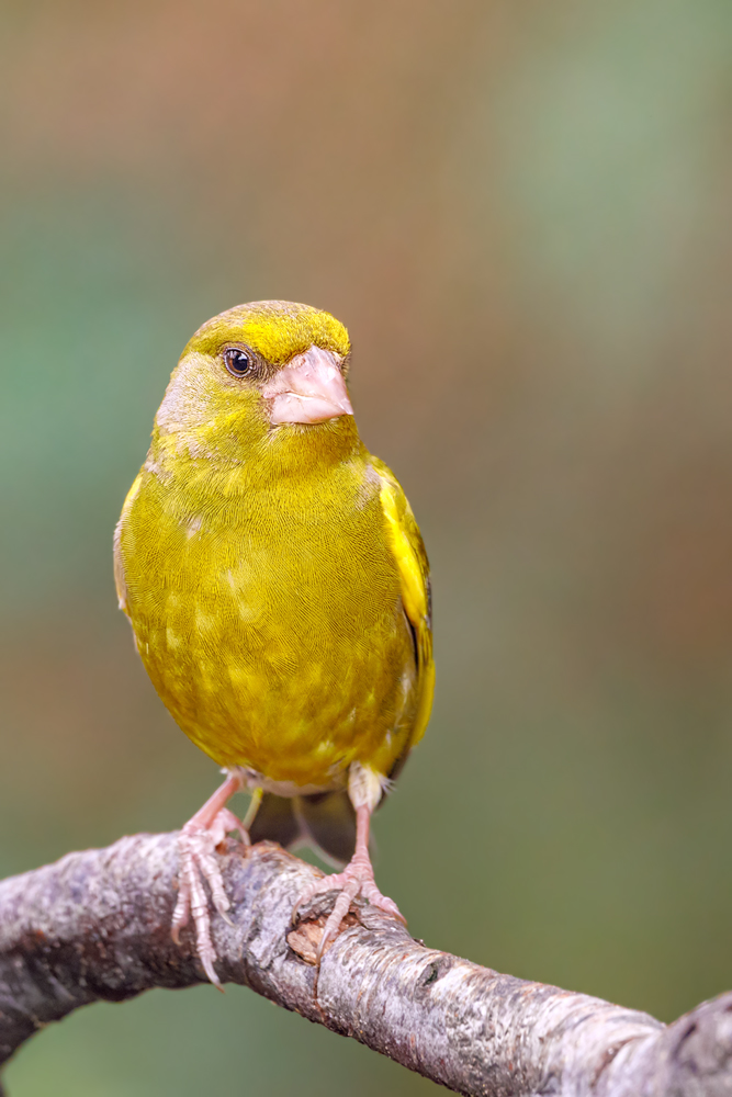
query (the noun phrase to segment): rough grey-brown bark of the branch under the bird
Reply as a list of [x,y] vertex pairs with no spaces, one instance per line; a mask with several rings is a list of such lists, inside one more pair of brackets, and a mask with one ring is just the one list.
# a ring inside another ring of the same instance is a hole
[[[292,930],[317,869],[262,842],[223,855],[233,925],[214,918],[223,982],[240,983],[462,1094],[732,1095],[732,993],[664,1026],[584,994],[426,948],[360,906],[326,952],[323,905]],[[176,835],[69,853],[0,883],[0,1062],[72,1009],[205,981],[170,940]],[[326,901],[327,902],[327,901]]]

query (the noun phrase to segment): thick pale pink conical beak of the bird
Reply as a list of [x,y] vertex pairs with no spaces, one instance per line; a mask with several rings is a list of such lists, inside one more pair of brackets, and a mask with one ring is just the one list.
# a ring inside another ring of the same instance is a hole
[[324,422],[353,415],[340,362],[330,351],[311,347],[283,366],[262,388],[271,400],[270,422]]

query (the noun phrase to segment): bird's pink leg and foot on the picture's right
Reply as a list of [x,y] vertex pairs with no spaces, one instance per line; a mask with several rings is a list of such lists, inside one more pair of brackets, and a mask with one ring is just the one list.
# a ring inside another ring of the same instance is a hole
[[293,911],[294,919],[300,907],[308,903],[316,895],[323,895],[330,891],[340,892],[323,928],[323,937],[320,938],[317,951],[318,963],[320,962],[326,945],[336,937],[351,903],[359,895],[368,900],[371,906],[391,914],[406,925],[406,918],[399,912],[394,900],[382,895],[376,887],[371,857],[369,856],[371,815],[381,798],[379,774],[361,766],[360,762],[354,762],[351,766],[349,774],[348,792],[356,808],[356,851],[353,857],[342,872],[334,872],[330,875],[314,881],[300,896]]

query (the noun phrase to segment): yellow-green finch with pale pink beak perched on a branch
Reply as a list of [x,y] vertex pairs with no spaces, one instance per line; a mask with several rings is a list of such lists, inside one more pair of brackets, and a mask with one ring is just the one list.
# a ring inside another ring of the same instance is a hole
[[[435,683],[429,564],[399,483],[362,442],[351,344],[329,313],[238,305],[185,346],[114,533],[121,609],[173,720],[226,779],[182,827],[171,932],[193,920],[219,984],[216,849],[309,842],[340,872],[323,951],[379,891],[371,816],[427,726]],[[226,806],[251,794],[240,821]],[[345,867],[344,867],[345,866]],[[210,898],[209,894],[210,893]],[[214,914],[215,916],[215,914]]]

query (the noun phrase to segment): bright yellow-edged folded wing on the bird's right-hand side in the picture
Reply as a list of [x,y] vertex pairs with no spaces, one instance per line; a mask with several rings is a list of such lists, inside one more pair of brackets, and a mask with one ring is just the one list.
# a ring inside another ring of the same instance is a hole
[[[402,579],[402,602],[414,630],[417,649],[418,705],[409,740],[413,747],[425,734],[435,692],[432,661],[432,598],[429,562],[419,527],[407,497],[394,473],[379,457],[371,459],[381,479],[381,508],[384,512],[392,552]],[[392,776],[392,774],[390,774]]]

